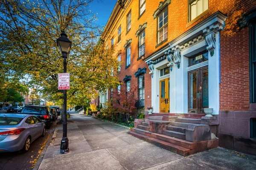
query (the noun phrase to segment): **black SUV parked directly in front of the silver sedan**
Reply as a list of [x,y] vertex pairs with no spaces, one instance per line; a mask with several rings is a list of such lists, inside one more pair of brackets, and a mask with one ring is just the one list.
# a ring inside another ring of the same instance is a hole
[[45,123],[46,128],[48,129],[50,128],[51,123],[53,121],[50,108],[46,106],[26,105],[21,111],[21,113],[37,116],[39,119],[41,119]]

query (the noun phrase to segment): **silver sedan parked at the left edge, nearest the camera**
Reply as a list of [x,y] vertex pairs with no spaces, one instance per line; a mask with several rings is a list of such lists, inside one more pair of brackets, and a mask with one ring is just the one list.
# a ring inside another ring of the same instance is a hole
[[45,124],[33,115],[0,113],[0,152],[26,152],[45,135]]

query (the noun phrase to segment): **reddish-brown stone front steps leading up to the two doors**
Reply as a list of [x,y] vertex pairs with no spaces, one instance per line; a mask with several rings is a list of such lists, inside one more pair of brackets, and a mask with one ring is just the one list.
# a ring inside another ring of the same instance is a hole
[[205,121],[201,124],[201,119],[161,114],[147,116],[148,119],[136,119],[135,128],[128,133],[182,156],[218,146],[218,139],[212,137],[211,128],[209,124],[204,125]]

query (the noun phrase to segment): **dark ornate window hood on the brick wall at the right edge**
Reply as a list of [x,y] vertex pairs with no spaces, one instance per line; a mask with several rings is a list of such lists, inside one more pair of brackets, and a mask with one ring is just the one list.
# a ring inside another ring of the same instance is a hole
[[242,29],[249,26],[252,20],[256,20],[256,8],[242,14],[242,17],[237,20],[237,23],[239,24],[240,29]]

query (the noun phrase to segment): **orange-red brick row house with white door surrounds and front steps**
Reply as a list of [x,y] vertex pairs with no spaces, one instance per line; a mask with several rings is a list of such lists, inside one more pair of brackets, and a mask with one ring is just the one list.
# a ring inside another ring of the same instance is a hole
[[183,155],[206,147],[161,141],[256,154],[255,0],[118,0],[101,38],[122,63],[118,88],[153,106],[131,134]]

